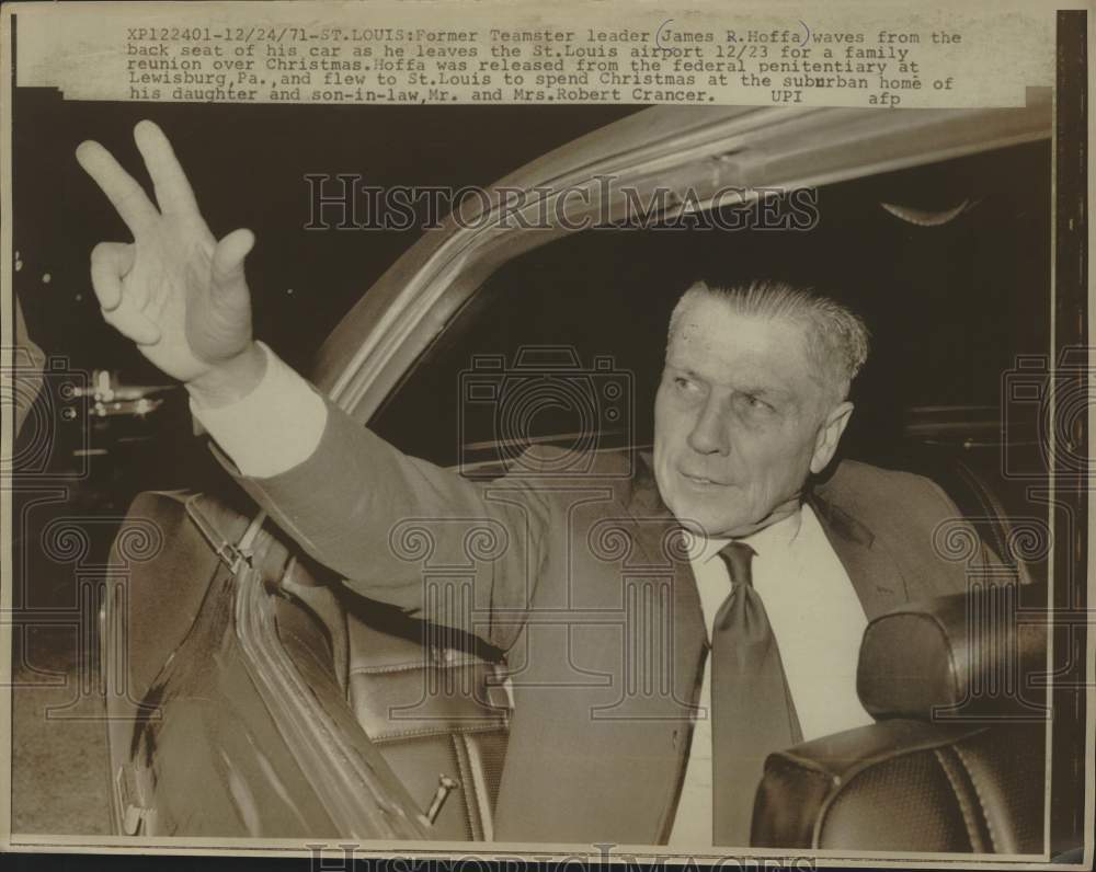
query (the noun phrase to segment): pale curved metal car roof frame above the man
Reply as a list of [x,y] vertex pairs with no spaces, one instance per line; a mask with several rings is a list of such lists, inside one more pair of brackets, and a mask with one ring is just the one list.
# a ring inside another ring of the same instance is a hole
[[[657,106],[555,149],[488,188],[426,231],[347,312],[321,346],[316,383],[355,418],[368,421],[419,354],[498,266],[570,232],[545,200],[582,190],[568,218],[617,220],[630,187],[648,203],[660,186],[688,188],[703,208],[729,187],[818,187],[951,158],[1048,139],[1052,94],[1030,88],[1008,108],[879,110],[772,106]],[[606,187],[598,179],[614,180]],[[536,229],[496,220],[521,192]],[[511,199],[507,200],[507,197]],[[635,205],[635,200],[632,204]],[[671,195],[672,216],[685,204]]]

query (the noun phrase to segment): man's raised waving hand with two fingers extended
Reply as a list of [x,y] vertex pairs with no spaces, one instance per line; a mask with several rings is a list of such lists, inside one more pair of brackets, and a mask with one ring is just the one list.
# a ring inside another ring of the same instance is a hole
[[254,236],[235,230],[218,242],[163,131],[142,121],[134,139],[159,209],[99,142],[81,142],[76,151],[134,237],[92,251],[91,283],[103,317],[199,403],[231,402],[258,385],[265,367],[252,340],[243,276]]

